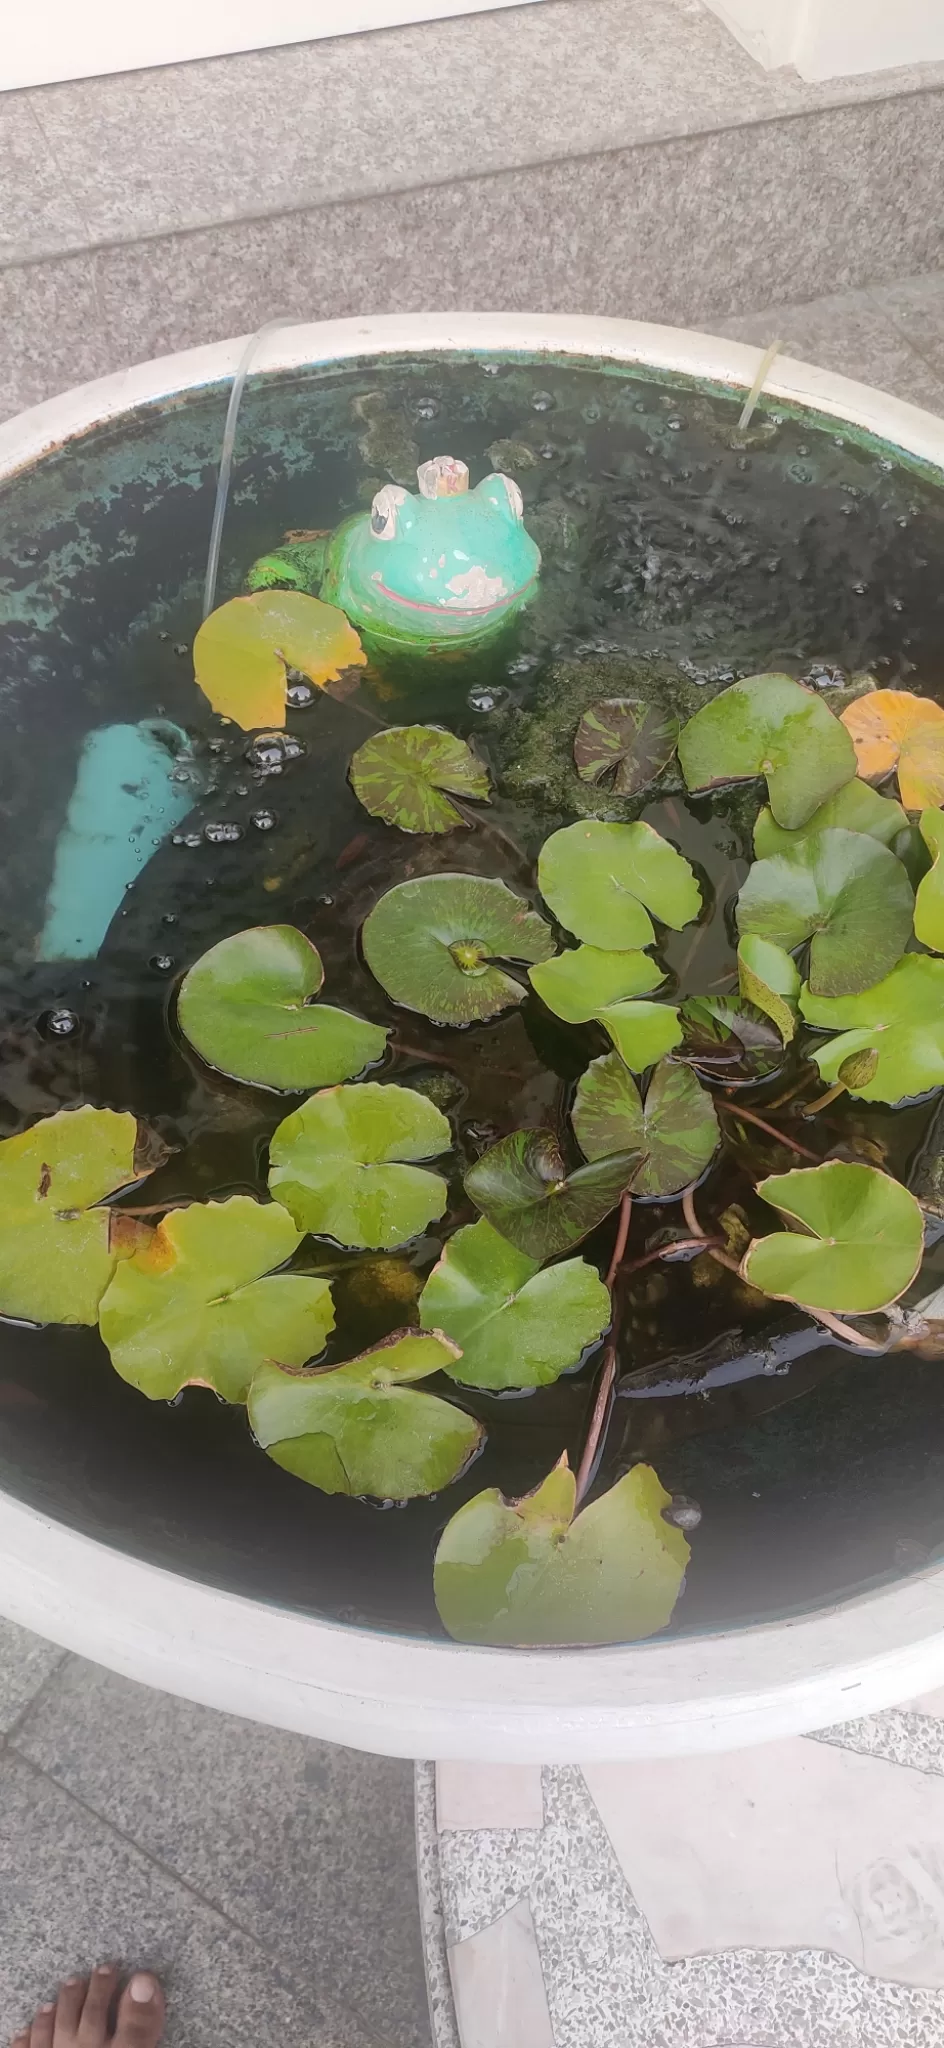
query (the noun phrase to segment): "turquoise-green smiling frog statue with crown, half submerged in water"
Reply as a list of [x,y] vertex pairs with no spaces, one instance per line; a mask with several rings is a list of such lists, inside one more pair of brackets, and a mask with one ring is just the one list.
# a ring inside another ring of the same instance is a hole
[[260,555],[248,590],[303,590],[336,604],[387,651],[446,653],[498,633],[537,590],[541,549],[524,526],[512,477],[483,477],[436,455],[416,471],[420,494],[377,492],[371,512],[332,535],[291,537]]

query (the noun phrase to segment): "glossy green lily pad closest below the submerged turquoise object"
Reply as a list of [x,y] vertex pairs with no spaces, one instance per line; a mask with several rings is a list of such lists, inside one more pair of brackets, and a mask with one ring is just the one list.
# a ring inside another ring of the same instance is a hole
[[176,1014],[201,1059],[256,1087],[330,1087],[387,1051],[379,1024],[315,1004],[321,956],[291,924],[221,938],[184,975]]

